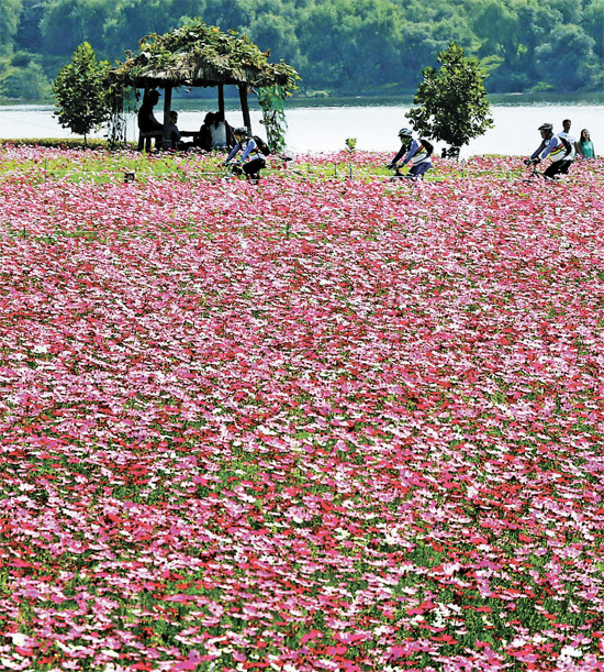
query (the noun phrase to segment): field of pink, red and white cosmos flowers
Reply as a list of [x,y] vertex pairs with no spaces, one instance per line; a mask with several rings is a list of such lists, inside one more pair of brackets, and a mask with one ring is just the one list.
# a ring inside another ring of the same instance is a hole
[[604,166],[388,158],[0,148],[2,670],[604,670]]

